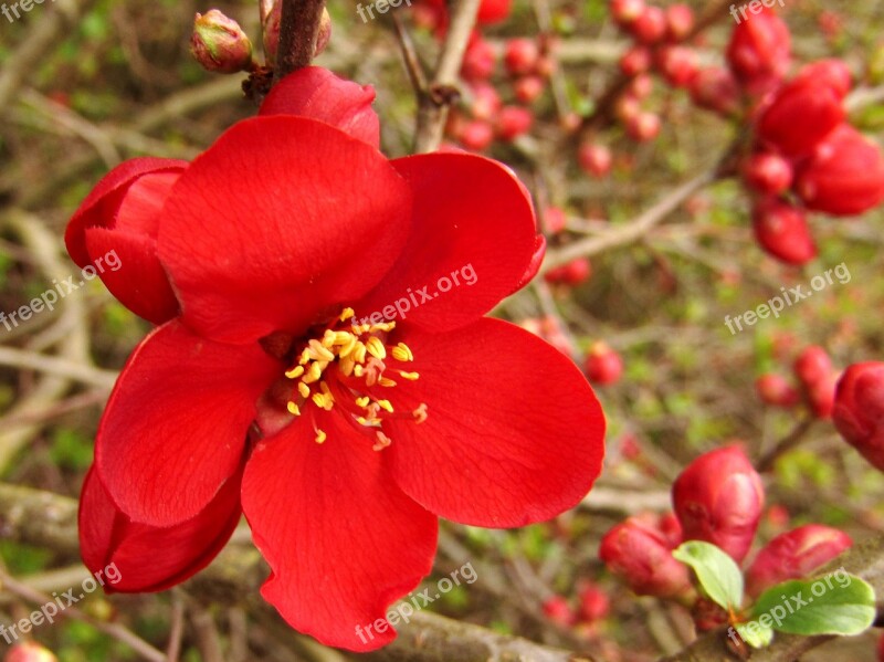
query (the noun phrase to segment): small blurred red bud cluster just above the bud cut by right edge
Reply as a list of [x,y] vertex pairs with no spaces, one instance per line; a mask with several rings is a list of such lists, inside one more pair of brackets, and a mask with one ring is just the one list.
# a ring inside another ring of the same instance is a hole
[[825,349],[818,345],[806,347],[796,358],[792,374],[798,386],[776,372],[761,375],[755,382],[761,401],[782,409],[804,403],[817,418],[831,417],[838,371]]

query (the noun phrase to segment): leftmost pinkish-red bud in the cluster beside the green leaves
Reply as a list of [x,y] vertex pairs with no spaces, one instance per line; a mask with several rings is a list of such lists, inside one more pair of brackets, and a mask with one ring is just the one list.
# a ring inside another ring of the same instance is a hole
[[599,558],[639,596],[674,598],[691,591],[687,566],[673,558],[653,515],[630,517],[604,534]]

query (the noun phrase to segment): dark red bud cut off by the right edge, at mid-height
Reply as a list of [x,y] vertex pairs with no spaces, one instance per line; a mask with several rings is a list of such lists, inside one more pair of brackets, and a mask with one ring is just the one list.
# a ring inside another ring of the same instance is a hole
[[844,371],[832,420],[849,444],[884,471],[884,362],[854,364]]

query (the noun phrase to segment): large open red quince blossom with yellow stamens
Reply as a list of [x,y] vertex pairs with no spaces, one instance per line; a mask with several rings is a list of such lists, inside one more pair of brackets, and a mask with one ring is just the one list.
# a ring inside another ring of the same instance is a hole
[[[388,160],[372,98],[301,70],[192,162],[127,161],[72,218],[74,261],[117,250],[105,283],[159,325],[117,380],[81,500],[83,558],[116,563],[115,590],[190,577],[244,513],[264,598],[370,650],[394,631],[356,626],[430,572],[438,517],[545,521],[600,472],[577,367],[483,317],[543,256],[525,188],[467,154]],[[466,264],[473,285],[372,315]]]

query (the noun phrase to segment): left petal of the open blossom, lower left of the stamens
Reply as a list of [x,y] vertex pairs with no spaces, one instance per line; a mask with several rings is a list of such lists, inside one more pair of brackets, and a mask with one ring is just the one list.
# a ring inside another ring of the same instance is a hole
[[160,527],[204,509],[236,471],[255,401],[280,369],[256,344],[215,344],[177,321],[147,336],[95,440],[98,475],[119,509]]

